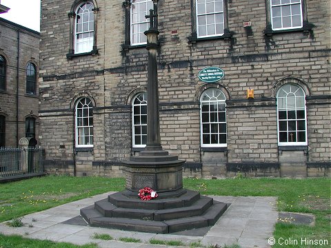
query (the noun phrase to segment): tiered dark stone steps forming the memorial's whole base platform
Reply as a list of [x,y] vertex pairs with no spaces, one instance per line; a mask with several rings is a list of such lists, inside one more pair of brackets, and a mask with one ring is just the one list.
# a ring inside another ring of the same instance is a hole
[[92,227],[168,234],[212,226],[227,209],[225,203],[199,192],[179,192],[174,198],[161,194],[148,201],[139,196],[132,198],[126,191],[118,192],[81,209],[81,216]]

